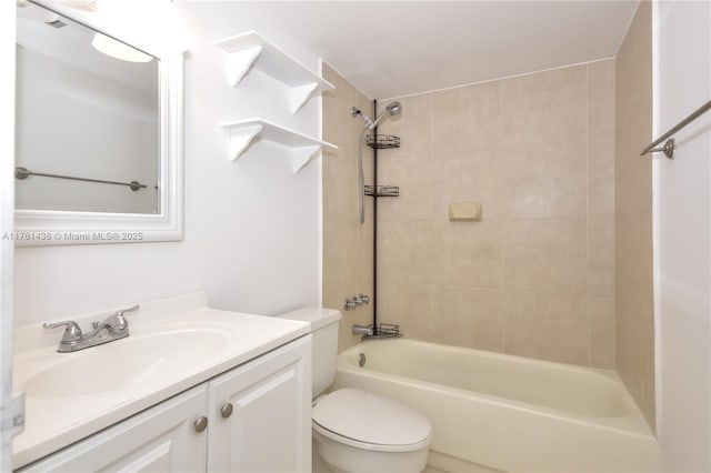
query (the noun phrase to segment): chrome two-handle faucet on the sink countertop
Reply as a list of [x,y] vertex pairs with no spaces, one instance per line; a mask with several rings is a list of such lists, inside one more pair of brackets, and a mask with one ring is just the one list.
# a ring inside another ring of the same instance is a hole
[[112,313],[101,322],[91,324],[91,332],[86,335],[74,321],[46,323],[44,329],[58,329],[66,326],[62,340],[59,342],[57,351],[59,353],[76,352],[78,350],[88,349],[90,346],[100,345],[102,343],[113,342],[116,340],[129,336],[129,322],[123,316],[127,312],[138,311],[140,305],[133,305],[129,309],[122,309]]

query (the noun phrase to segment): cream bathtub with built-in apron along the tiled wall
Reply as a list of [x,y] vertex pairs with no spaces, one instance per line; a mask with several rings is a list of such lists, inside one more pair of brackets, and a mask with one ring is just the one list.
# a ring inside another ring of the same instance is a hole
[[658,442],[611,371],[397,339],[341,353],[334,389],[349,386],[424,414],[442,471],[658,471]]

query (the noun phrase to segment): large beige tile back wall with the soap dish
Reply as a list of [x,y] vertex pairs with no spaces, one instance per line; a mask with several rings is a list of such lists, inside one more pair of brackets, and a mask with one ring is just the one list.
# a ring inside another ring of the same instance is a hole
[[[605,60],[398,99],[380,127],[402,145],[378,154],[379,183],[400,187],[378,204],[379,320],[615,368],[614,80]],[[450,222],[453,201],[482,202],[482,221]]]

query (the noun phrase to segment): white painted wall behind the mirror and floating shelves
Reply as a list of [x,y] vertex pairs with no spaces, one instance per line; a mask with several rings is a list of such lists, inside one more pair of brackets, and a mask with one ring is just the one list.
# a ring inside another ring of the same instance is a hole
[[213,43],[256,29],[312,70],[318,58],[256,6],[176,4],[192,40],[186,61],[184,241],[17,249],[16,325],[201,289],[212,306],[254,313],[320,302],[320,162],[293,174],[284,151],[268,147],[229,162],[228,137],[218,127],[261,115],[318,135],[320,101],[311,99],[292,115],[286,88],[257,70],[230,88],[223,53]]

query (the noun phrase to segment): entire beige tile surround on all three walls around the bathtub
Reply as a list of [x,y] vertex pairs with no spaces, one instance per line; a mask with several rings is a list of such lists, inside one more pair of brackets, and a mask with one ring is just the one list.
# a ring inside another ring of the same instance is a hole
[[[372,102],[324,64],[324,304],[372,294],[372,203],[358,222],[356,162]],[[617,92],[617,99],[615,99]],[[651,9],[617,60],[400,98],[380,131],[379,315],[410,338],[618,369],[654,426]],[[387,103],[379,103],[379,109]],[[615,140],[617,137],[617,140]],[[615,158],[617,154],[617,158]],[[367,149],[367,182],[372,182]],[[452,201],[483,203],[450,222]],[[617,251],[615,251],[617,250]],[[343,312],[340,350],[372,305]]]

